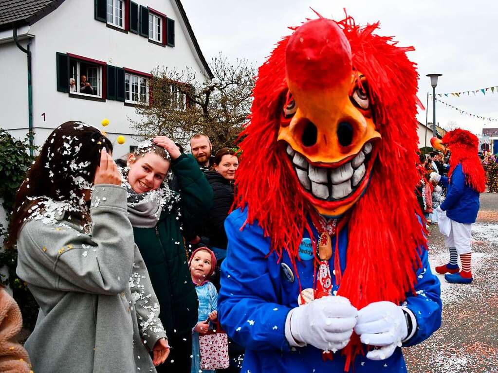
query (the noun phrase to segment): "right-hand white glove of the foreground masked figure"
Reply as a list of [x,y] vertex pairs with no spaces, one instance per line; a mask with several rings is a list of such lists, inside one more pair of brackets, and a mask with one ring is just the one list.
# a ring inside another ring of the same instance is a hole
[[[411,311],[409,312],[411,314]],[[415,317],[412,322],[413,320]],[[367,353],[370,360],[389,358],[396,347],[401,347],[401,342],[407,339],[407,329],[403,308],[392,302],[370,303],[358,311],[356,334],[360,336],[362,343],[380,347]],[[415,329],[416,325],[413,325],[412,331]]]

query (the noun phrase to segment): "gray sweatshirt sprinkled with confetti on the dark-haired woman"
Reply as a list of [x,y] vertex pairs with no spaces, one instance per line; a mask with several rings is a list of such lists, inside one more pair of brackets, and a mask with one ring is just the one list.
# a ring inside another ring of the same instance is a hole
[[91,206],[91,234],[65,213],[30,219],[19,233],[17,275],[40,305],[25,344],[33,371],[156,372],[148,350],[166,335],[126,189],[98,185]]

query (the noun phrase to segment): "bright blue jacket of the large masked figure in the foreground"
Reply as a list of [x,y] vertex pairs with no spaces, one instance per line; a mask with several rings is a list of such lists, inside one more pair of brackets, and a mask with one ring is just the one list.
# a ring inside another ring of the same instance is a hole
[[[299,285],[285,276],[287,269],[277,263],[275,253],[269,252],[270,240],[264,237],[256,223],[240,228],[247,218],[247,210],[235,210],[225,221],[228,237],[227,258],[222,264],[221,290],[218,298],[218,315],[222,326],[233,340],[246,347],[243,373],[277,372],[344,372],[345,358],[338,351],[332,361],[324,362],[322,352],[308,345],[291,348],[285,339],[285,319],[287,313],[297,307]],[[316,232],[315,232],[315,235]],[[316,238],[316,237],[315,237]],[[307,253],[309,236],[303,238],[301,260],[297,270],[302,288],[313,287],[313,261]],[[335,237],[332,239],[335,247]],[[341,268],[346,269],[347,228],[339,234]],[[301,251],[301,250],[300,250]],[[417,319],[415,335],[405,346],[415,345],[428,338],[441,324],[440,284],[431,273],[424,250],[422,267],[417,272],[417,295],[407,294],[406,305]],[[285,253],[282,262],[294,272],[289,256]],[[329,261],[331,271],[334,257]],[[333,281],[334,276],[332,276]],[[338,287],[334,282],[333,290]],[[406,372],[401,353],[397,348],[394,354],[383,361],[372,361],[358,356],[350,372]]]

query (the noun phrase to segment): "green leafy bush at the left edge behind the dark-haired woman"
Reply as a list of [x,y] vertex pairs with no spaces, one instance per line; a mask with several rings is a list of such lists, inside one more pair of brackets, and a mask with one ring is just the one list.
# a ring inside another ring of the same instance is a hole
[[[0,128],[0,196],[3,199],[2,207],[7,220],[12,213],[17,189],[26,177],[27,169],[34,161],[34,157],[29,155],[30,150],[34,153],[38,149],[36,146],[29,145],[28,136],[24,140],[17,140]],[[0,242],[6,241],[7,234],[7,227],[0,224]],[[21,309],[24,327],[33,330],[38,315],[38,304],[26,283],[15,274],[16,250],[4,250],[3,248],[0,250],[0,268],[3,266],[7,267],[8,274],[2,275],[0,281],[12,289],[14,299]]]

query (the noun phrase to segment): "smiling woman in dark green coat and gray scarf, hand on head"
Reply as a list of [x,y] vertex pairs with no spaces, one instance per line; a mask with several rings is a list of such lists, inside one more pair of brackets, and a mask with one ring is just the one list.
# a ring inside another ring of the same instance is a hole
[[[170,170],[177,178],[179,193],[168,187]],[[213,191],[195,159],[182,154],[165,136],[138,145],[128,155],[122,173],[133,236],[150,274],[161,307],[159,318],[172,346],[170,362],[158,367],[157,372],[190,372],[198,299],[181,223],[202,219],[202,212],[211,207]]]

